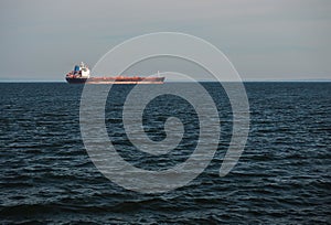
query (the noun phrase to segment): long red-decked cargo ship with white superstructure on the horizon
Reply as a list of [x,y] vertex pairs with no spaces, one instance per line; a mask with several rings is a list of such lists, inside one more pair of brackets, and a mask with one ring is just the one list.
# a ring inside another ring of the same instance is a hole
[[163,84],[164,77],[158,76],[104,76],[93,77],[89,68],[83,62],[75,65],[74,69],[65,75],[65,79],[70,84]]

